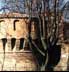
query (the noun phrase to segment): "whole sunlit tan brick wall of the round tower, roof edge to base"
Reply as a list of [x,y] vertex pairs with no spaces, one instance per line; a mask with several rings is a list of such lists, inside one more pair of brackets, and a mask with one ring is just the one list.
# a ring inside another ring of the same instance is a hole
[[[26,17],[25,14],[8,15],[9,17]],[[8,15],[4,15],[4,17],[7,17]],[[0,19],[0,21],[2,20],[3,22],[0,22],[0,71],[36,71],[38,68],[38,63],[31,51],[24,51],[23,49],[19,50],[20,38],[27,39],[28,29],[26,22],[28,19]],[[19,20],[15,24],[16,30],[14,30],[15,20]],[[32,32],[34,34],[34,26],[32,26]],[[5,49],[3,49],[2,38],[7,39]],[[16,38],[16,44],[13,50],[11,49],[11,38]]]

